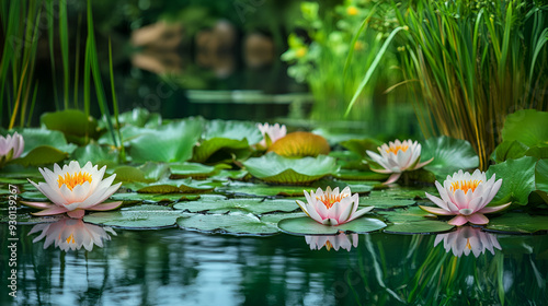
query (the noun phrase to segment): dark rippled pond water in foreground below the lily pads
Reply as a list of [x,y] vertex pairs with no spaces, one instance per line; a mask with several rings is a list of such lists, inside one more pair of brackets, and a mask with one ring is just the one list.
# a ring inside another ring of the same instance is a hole
[[[64,251],[53,245],[44,249],[45,239],[33,244],[38,233],[28,235],[31,228],[18,228],[15,299],[5,290],[8,231],[2,229],[1,305],[546,305],[548,301],[546,235],[495,235],[469,227],[446,234],[443,242],[436,235],[373,233],[351,237],[354,246],[343,245],[336,251],[333,245],[330,250],[311,249],[305,237],[286,234],[237,237],[179,228],[114,228],[116,235],[110,234],[102,248]],[[465,254],[446,252],[444,243],[450,248],[463,237]],[[471,248],[468,255],[467,248]]]

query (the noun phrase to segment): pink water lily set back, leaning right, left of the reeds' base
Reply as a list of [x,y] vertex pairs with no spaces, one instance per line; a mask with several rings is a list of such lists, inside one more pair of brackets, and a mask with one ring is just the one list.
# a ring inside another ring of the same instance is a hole
[[392,174],[385,184],[395,183],[400,178],[402,172],[421,168],[434,160],[434,157],[432,157],[426,162],[420,163],[421,144],[410,139],[403,142],[397,139],[393,142],[388,142],[388,144],[384,143],[377,148],[377,150],[380,155],[369,150],[367,150],[366,153],[384,168],[372,168],[372,170],[376,173]]

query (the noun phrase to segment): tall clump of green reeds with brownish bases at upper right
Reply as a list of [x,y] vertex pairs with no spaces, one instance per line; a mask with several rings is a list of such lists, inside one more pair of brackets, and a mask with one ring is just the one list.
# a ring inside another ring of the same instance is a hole
[[[486,169],[504,118],[546,109],[548,15],[540,1],[413,1],[402,68],[425,137],[466,139]],[[403,33],[403,32],[402,32]]]

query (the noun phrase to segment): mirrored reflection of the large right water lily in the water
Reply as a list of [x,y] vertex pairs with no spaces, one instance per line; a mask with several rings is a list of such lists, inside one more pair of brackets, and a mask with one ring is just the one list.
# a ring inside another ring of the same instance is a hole
[[437,246],[442,240],[444,242],[445,251],[453,250],[453,255],[456,257],[460,257],[463,254],[468,256],[470,251],[475,257],[479,257],[486,252],[486,249],[494,255],[495,248],[502,249],[494,235],[470,226],[463,226],[455,232],[438,234],[434,246]]

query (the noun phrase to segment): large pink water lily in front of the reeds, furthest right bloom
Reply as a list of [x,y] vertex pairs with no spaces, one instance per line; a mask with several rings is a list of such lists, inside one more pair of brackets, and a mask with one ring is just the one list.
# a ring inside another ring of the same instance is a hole
[[460,226],[467,222],[472,224],[487,224],[489,219],[484,213],[496,212],[505,209],[510,203],[498,207],[486,207],[494,198],[502,185],[502,178],[495,181],[495,175],[488,180],[486,173],[479,169],[472,175],[469,173],[453,174],[442,186],[435,183],[442,199],[426,192],[426,197],[439,208],[420,208],[439,215],[456,215],[449,220],[449,224]]

